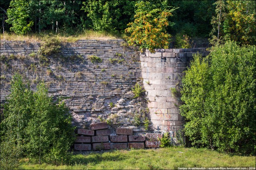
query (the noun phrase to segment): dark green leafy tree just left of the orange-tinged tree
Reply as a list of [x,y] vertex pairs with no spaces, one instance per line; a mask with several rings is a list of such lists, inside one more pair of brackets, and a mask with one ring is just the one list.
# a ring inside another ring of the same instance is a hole
[[134,15],[135,1],[88,0],[83,4],[82,10],[87,13],[91,27],[96,31],[122,31]]

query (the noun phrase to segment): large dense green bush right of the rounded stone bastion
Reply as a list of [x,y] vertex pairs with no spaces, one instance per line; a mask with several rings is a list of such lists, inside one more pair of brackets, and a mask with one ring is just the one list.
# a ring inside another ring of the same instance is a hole
[[181,115],[192,145],[255,153],[255,46],[227,42],[194,55],[182,79]]

